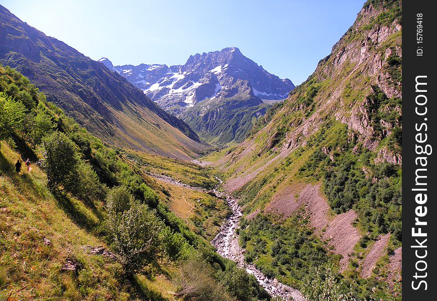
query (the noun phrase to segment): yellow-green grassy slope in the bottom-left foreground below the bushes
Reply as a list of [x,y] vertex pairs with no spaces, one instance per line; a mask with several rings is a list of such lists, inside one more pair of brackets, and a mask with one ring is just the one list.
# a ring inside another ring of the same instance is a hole
[[[2,143],[0,299],[128,300],[151,292],[161,295],[161,286],[152,285],[161,277],[132,283],[123,277],[119,263],[82,249],[84,245],[108,247],[93,234],[102,204],[90,208],[74,198],[52,195],[38,166],[33,165],[30,173],[15,172],[13,164],[20,157]],[[45,244],[44,238],[51,243]],[[77,274],[61,271],[66,260],[79,263]]]

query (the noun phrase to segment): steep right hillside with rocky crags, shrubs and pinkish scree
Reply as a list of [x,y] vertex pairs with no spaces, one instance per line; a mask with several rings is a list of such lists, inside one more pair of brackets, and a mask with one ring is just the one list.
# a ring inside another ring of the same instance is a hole
[[306,273],[334,264],[358,299],[393,292],[400,270],[390,262],[402,239],[401,28],[400,2],[368,1],[248,139],[202,159],[216,162],[240,198],[245,256],[265,273],[299,287]]

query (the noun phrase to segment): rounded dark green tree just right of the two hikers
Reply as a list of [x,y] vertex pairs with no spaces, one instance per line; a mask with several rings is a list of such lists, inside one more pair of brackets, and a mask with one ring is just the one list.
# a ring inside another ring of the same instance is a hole
[[68,184],[75,176],[79,162],[76,144],[65,134],[55,131],[44,137],[42,148],[41,166],[47,174],[49,189],[53,191],[60,185],[68,189]]

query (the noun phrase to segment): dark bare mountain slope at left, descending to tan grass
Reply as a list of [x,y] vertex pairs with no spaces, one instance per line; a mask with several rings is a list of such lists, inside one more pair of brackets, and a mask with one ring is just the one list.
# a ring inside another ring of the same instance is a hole
[[105,142],[189,160],[207,145],[124,77],[46,36],[0,6],[0,63]]

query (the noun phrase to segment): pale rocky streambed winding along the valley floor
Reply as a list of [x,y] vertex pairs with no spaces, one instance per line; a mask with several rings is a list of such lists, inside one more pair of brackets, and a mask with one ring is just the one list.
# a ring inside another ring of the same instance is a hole
[[241,212],[238,201],[232,198],[229,194],[223,194],[214,191],[217,196],[226,198],[229,206],[232,208],[232,215],[222,225],[220,232],[211,241],[211,244],[217,249],[217,253],[225,258],[237,262],[238,266],[246,269],[249,274],[255,276],[258,282],[269,292],[272,296],[282,297],[284,300],[305,301],[302,293],[288,285],[282,284],[277,279],[267,278],[260,270],[253,264],[248,264],[244,261],[244,250],[239,244],[239,236],[235,232],[238,228]]

